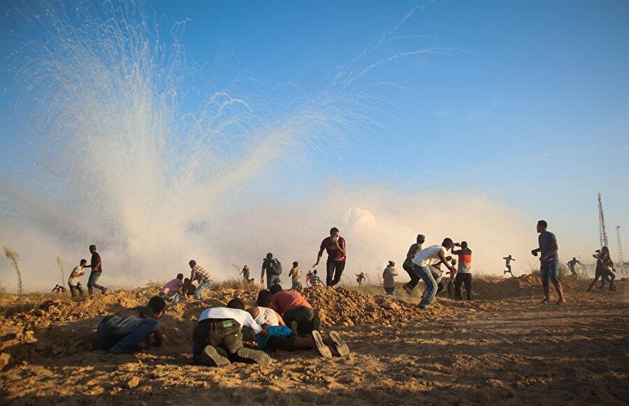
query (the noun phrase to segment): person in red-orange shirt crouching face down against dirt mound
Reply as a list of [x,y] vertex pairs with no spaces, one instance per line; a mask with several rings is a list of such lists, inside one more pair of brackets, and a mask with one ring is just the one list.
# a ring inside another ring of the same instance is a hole
[[310,335],[319,330],[319,312],[296,291],[284,291],[279,284],[270,289],[273,293],[271,309],[282,315],[284,322],[299,335]]

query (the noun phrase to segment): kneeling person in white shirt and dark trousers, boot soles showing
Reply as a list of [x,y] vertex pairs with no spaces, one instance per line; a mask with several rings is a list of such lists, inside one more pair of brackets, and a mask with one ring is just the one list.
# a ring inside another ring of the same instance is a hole
[[243,327],[266,337],[268,332],[245,312],[243,300],[233,298],[227,307],[210,307],[201,312],[192,332],[194,363],[223,366],[232,362],[270,363],[262,351],[243,347]]

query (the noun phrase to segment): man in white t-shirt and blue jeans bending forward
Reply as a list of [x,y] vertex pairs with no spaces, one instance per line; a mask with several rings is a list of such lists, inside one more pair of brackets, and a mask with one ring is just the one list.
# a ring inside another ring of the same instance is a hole
[[448,250],[452,248],[452,245],[452,240],[445,238],[441,245],[431,245],[431,247],[422,249],[414,256],[412,269],[426,284],[426,291],[419,302],[419,308],[425,309],[431,304],[437,294],[437,285],[441,281],[442,275],[441,271],[434,268],[433,265],[442,262],[450,272],[456,273],[456,268],[451,266],[445,256]]

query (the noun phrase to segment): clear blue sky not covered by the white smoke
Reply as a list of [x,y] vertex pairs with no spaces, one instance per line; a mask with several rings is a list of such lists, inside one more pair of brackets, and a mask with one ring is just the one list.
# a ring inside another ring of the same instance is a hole
[[[155,0],[146,10],[166,42],[173,24],[187,20],[180,37],[187,63],[212,66],[199,71],[219,88],[246,71],[268,87],[301,87],[306,99],[339,96],[344,90],[330,84],[345,68],[447,49],[369,72],[370,83],[395,85],[372,89],[393,104],[375,103],[384,108],[372,117],[382,127],[356,130],[331,159],[314,159],[319,180],[396,194],[485,194],[548,219],[587,250],[598,243],[602,191],[610,239],[620,224],[629,244],[627,1]],[[41,40],[10,14],[3,36]],[[369,57],[351,62],[379,38],[386,41]],[[0,45],[3,60],[15,60],[11,47]],[[33,159],[20,135],[31,102],[14,77],[0,71],[0,180]],[[273,97],[269,105],[282,108]],[[317,187],[285,181],[287,189]]]

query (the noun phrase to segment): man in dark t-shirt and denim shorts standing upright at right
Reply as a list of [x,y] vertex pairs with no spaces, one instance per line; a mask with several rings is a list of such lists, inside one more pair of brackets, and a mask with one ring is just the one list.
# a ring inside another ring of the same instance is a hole
[[555,291],[559,296],[557,304],[560,305],[565,302],[565,298],[563,297],[561,283],[559,283],[559,255],[557,254],[559,246],[557,245],[557,238],[553,233],[547,231],[547,228],[548,223],[545,220],[537,222],[537,233],[540,233],[540,236],[537,238],[539,247],[532,249],[530,253],[533,256],[537,256],[538,252],[542,254],[540,256],[540,273],[542,274],[542,287],[544,288],[544,300],[542,300],[542,303],[548,303],[550,300],[550,289],[548,286],[550,280],[553,282]]

